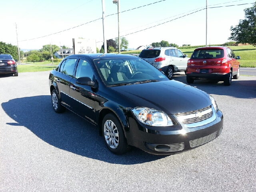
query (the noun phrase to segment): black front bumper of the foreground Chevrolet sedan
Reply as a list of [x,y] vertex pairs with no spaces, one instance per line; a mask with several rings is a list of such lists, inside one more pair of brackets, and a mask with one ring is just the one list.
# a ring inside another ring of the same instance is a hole
[[129,117],[128,121],[128,144],[157,155],[180,153],[203,145],[218,137],[223,128],[223,115],[220,110],[214,112],[212,122],[200,122],[196,127],[179,122],[170,127],[145,126],[132,117]]

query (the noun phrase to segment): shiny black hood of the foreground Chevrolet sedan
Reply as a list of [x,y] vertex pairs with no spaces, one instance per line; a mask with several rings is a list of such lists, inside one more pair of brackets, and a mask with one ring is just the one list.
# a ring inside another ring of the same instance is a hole
[[138,107],[153,108],[166,114],[194,111],[212,104],[206,92],[175,80],[115,86],[111,89],[126,96]]

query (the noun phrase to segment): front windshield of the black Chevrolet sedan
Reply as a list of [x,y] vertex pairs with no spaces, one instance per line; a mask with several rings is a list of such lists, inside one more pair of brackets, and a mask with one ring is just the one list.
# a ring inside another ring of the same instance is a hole
[[138,57],[95,59],[94,63],[106,86],[122,86],[169,80],[157,68]]

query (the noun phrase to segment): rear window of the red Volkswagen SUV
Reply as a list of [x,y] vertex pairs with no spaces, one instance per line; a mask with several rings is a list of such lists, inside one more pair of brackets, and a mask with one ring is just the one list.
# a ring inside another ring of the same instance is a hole
[[191,56],[191,58],[222,58],[224,57],[223,49],[203,49],[203,50],[195,50]]

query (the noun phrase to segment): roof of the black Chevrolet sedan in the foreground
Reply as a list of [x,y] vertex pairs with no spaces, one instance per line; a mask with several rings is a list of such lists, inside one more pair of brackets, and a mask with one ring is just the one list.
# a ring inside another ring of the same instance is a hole
[[[70,55],[68,57],[72,56],[80,56],[80,57],[91,57],[92,59],[111,59],[111,58],[134,58],[136,56],[128,55],[128,54],[115,54],[115,53],[88,53],[88,54],[74,54]],[[68,58],[66,57],[66,58]],[[136,57],[138,58],[138,57]]]

